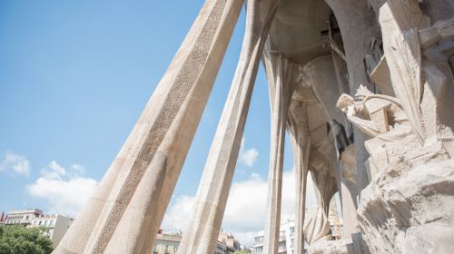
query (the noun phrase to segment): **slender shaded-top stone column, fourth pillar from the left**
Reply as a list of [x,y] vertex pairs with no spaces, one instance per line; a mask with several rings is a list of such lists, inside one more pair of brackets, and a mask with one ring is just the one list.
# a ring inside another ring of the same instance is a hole
[[306,109],[303,107],[304,103],[292,101],[288,116],[296,181],[294,253],[304,252],[303,226],[306,216],[306,186],[311,152],[311,138],[307,131]]

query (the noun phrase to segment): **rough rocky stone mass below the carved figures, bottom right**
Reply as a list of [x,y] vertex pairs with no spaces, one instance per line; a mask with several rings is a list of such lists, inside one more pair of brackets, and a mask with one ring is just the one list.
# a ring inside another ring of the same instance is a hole
[[364,190],[358,219],[371,253],[451,253],[454,160],[398,176],[380,172]]

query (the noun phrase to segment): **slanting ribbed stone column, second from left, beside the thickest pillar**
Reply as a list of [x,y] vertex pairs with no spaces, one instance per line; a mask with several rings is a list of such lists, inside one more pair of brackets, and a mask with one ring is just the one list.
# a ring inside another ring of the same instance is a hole
[[212,253],[229,197],[262,49],[277,1],[247,2],[242,54],[178,253]]

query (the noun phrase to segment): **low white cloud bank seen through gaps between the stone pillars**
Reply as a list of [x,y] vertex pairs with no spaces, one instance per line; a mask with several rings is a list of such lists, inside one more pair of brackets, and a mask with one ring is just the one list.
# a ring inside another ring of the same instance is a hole
[[[295,177],[294,171],[285,171],[282,175],[281,221],[293,219],[295,209]],[[268,182],[256,173],[246,181],[232,183],[229,200],[222,220],[222,229],[232,234],[242,244],[252,246],[257,232],[263,230],[266,216],[266,193]],[[306,207],[316,202],[315,193],[308,176]],[[192,206],[195,198],[179,196],[167,210],[164,220],[164,230],[184,230],[187,218],[192,216]]]

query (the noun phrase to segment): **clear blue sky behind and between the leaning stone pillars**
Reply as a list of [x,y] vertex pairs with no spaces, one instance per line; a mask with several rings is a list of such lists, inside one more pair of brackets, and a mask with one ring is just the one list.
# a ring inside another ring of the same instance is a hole
[[[202,4],[0,1],[0,211],[76,213],[131,132]],[[241,51],[244,21],[243,10],[172,205],[197,190]],[[267,85],[261,66],[235,187],[268,177]],[[287,144],[284,169],[291,168]],[[68,187],[74,180],[83,181],[86,191]],[[64,196],[70,189],[76,193]],[[71,204],[73,199],[79,203]]]

